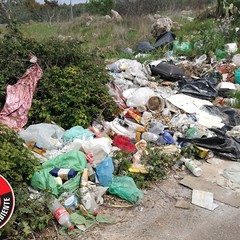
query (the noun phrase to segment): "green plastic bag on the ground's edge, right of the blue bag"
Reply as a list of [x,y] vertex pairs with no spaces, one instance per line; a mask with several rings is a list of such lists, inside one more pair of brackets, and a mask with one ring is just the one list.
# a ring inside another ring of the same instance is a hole
[[138,204],[143,198],[143,192],[139,190],[131,177],[116,176],[113,178],[112,184],[108,185],[109,193],[129,201],[130,203]]

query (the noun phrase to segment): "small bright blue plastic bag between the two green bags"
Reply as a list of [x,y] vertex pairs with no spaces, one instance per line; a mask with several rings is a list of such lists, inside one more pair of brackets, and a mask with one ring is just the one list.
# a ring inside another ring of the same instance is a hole
[[112,183],[112,175],[114,166],[111,157],[105,158],[100,164],[96,166],[96,174],[99,184],[103,187]]

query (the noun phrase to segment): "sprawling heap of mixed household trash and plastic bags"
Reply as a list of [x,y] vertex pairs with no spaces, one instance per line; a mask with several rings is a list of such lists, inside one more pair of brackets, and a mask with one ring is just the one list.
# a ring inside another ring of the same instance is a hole
[[[41,163],[31,179],[32,193],[50,192],[62,208],[74,209],[72,223],[82,219],[79,204],[85,216],[90,211],[97,215],[106,193],[132,204],[143,198],[131,177],[113,175],[117,150],[129,153],[132,171],[145,173],[141,159],[148,144],[179,150],[192,144],[202,159],[214,153],[239,161],[240,114],[234,108],[239,100],[229,96],[239,89],[240,55],[189,61],[174,56],[174,49],[188,44],[177,42],[171,32],[161,33],[154,48],[169,41],[173,50],[161,59],[142,64],[123,58],[106,66],[109,94],[121,109],[112,121],[96,113],[87,129],[40,123],[18,131]],[[153,50],[140,45],[142,52]],[[0,117],[6,122],[6,114]]]

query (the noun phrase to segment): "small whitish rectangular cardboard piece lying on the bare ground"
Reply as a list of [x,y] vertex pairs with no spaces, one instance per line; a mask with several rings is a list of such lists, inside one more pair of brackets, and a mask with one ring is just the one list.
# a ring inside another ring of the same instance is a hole
[[196,189],[192,191],[192,203],[211,211],[218,207],[217,204],[213,203],[213,193]]

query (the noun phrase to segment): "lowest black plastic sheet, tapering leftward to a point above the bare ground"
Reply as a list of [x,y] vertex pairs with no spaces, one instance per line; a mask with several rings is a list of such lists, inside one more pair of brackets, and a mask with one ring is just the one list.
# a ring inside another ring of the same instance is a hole
[[240,161],[240,139],[234,137],[178,138],[179,142],[190,142],[207,148],[214,154],[232,161]]

